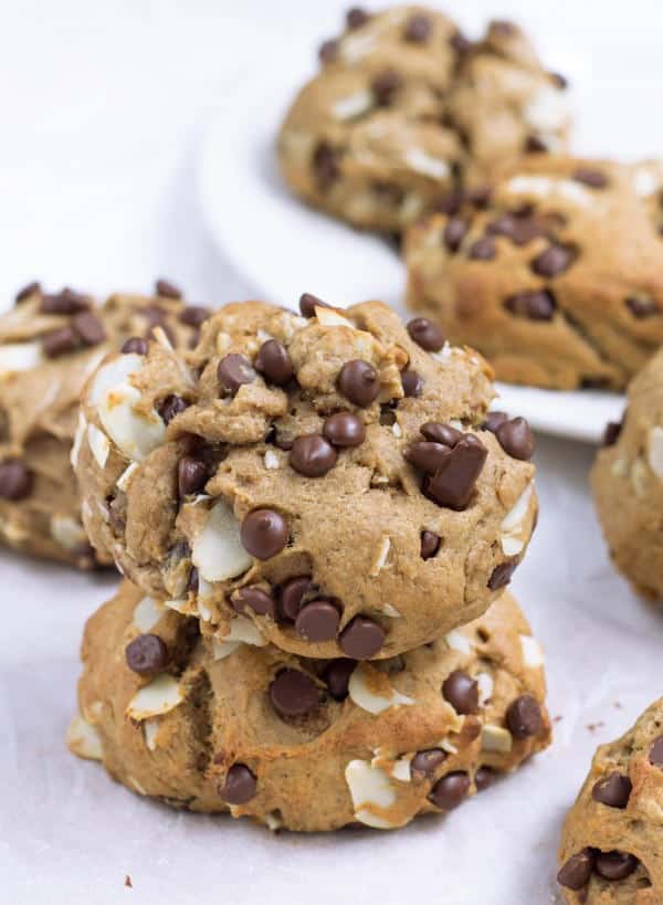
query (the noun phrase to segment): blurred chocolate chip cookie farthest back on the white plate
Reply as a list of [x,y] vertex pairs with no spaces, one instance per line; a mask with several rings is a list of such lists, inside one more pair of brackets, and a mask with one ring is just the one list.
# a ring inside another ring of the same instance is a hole
[[565,148],[561,82],[512,23],[472,44],[424,7],[354,9],[320,62],[281,128],[281,169],[297,196],[361,229],[400,232],[496,165]]

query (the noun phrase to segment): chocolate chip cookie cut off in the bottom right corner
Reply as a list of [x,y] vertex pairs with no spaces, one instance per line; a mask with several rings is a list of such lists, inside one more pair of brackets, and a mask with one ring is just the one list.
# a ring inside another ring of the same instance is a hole
[[663,902],[663,698],[601,745],[567,814],[557,880],[569,905]]

